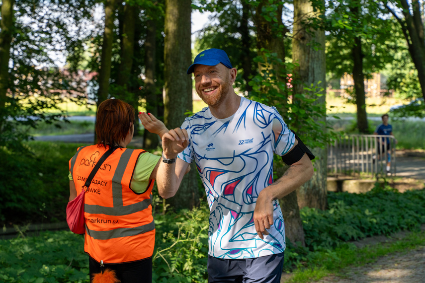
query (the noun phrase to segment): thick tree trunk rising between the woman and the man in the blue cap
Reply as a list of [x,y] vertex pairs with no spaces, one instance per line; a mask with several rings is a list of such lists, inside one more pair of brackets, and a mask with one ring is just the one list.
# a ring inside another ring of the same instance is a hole
[[[191,0],[166,0],[164,121],[169,129],[180,127],[185,118],[184,113],[192,111],[192,79],[186,74],[192,60],[190,14]],[[176,195],[169,201],[172,207],[190,209],[197,204],[198,178],[196,167],[192,164]]]

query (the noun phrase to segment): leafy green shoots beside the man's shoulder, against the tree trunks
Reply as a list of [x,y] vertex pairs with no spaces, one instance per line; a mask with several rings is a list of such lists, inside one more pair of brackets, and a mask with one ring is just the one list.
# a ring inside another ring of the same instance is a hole
[[319,86],[321,82],[305,86],[303,93],[293,93],[292,84],[299,83],[291,78],[295,65],[282,62],[277,54],[268,50],[261,49],[261,52],[262,56],[255,57],[254,61],[263,70],[250,81],[253,87],[250,98],[276,107],[289,128],[302,133],[303,141],[309,147],[325,146],[337,134],[324,123],[316,122],[326,116],[325,105],[317,103],[323,95],[323,88]]

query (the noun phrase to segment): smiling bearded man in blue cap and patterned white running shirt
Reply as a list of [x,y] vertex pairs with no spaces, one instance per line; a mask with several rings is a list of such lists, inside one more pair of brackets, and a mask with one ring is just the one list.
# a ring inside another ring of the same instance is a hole
[[[211,211],[208,281],[278,283],[285,250],[278,199],[311,178],[314,156],[274,107],[235,93],[237,71],[226,52],[199,53],[187,70],[192,72],[208,107],[175,129],[184,132],[175,137],[187,137],[188,146],[163,158],[178,157],[167,176],[177,188],[193,161],[204,184]],[[274,153],[290,165],[278,180],[273,180]]]

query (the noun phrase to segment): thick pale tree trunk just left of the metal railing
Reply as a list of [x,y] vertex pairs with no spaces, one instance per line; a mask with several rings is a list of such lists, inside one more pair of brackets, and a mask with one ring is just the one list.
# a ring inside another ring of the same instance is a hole
[[[323,123],[326,132],[326,61],[325,61],[325,31],[307,30],[304,22],[309,18],[318,17],[310,0],[294,0],[294,37],[292,39],[292,62],[298,63],[294,75],[299,83],[293,85],[293,93],[301,94],[305,85],[323,87],[322,96],[317,97],[316,104],[323,105],[323,112],[316,123]],[[319,84],[320,81],[320,84]],[[317,116],[315,116],[317,117]],[[302,135],[301,135],[302,136]],[[315,172],[313,177],[297,190],[298,205],[300,208],[310,207],[324,210],[327,206],[327,148],[313,148],[316,159],[313,163]]]

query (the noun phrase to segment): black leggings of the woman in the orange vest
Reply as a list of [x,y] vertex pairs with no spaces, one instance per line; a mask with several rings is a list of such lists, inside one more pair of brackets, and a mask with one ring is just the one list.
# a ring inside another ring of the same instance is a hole
[[93,280],[92,274],[109,268],[115,271],[121,283],[152,283],[152,257],[129,263],[104,264],[104,266],[101,268],[100,263],[91,257],[88,258],[90,282]]

